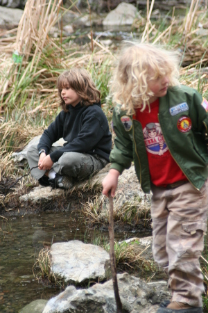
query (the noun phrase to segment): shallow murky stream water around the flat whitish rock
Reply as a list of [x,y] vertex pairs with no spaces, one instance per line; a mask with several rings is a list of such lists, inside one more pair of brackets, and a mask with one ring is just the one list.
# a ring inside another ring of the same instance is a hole
[[[33,300],[46,299],[60,289],[39,283],[33,275],[38,252],[51,243],[78,239],[94,243],[99,235],[108,232],[87,230],[77,211],[42,213],[36,216],[11,217],[0,223],[0,313],[17,313]],[[115,239],[141,234],[125,232]],[[148,234],[146,234],[148,236]]]

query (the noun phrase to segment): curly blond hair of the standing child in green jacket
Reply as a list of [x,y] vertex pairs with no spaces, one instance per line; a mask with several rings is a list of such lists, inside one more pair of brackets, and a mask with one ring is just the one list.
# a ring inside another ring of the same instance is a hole
[[139,42],[124,42],[112,81],[113,101],[127,114],[144,111],[153,92],[148,81],[167,75],[168,86],[179,84],[179,58],[175,51]]

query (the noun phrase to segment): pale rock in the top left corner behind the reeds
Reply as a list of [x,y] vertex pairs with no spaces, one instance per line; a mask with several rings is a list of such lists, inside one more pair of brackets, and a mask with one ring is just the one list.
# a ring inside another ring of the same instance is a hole
[[9,26],[10,28],[17,27],[23,12],[23,10],[17,8],[5,8],[0,6],[0,26]]

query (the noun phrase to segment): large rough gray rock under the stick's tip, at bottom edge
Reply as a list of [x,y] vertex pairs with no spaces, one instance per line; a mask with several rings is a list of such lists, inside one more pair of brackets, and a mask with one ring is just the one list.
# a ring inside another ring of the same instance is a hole
[[[123,273],[117,275],[123,313],[155,313],[159,303],[171,298],[164,281],[147,284],[135,276]],[[67,287],[58,296],[51,298],[43,313],[116,312],[112,280],[95,284],[89,289]]]

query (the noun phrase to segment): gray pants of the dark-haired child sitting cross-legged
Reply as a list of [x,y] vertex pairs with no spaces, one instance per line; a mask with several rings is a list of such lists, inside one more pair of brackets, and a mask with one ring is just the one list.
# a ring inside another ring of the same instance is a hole
[[[52,146],[49,154],[60,148],[60,146]],[[29,147],[27,157],[30,168],[37,166],[39,160],[37,145]],[[65,152],[57,162],[53,163],[53,170],[60,175],[68,175],[69,177],[81,180],[94,175],[104,168],[107,163],[107,160],[97,154],[92,156],[87,153]],[[45,172],[46,170],[34,168],[31,170],[31,175],[35,179],[40,179]]]

